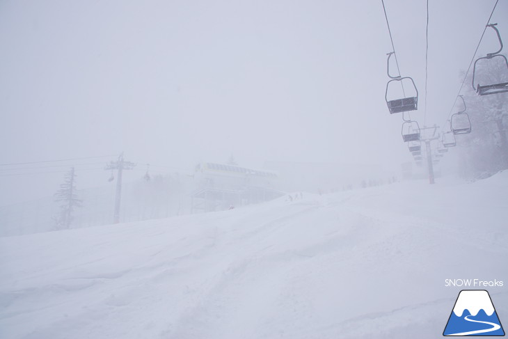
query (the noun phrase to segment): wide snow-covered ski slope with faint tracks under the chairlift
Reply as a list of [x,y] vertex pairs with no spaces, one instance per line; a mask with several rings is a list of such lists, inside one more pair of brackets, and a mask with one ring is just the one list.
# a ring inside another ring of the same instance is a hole
[[461,287],[508,322],[508,172],[0,238],[0,338],[437,338]]

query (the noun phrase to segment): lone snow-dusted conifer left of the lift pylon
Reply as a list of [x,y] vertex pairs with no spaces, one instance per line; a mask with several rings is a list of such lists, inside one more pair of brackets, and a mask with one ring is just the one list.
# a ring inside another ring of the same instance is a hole
[[70,168],[68,173],[65,173],[64,182],[60,185],[60,189],[58,189],[54,197],[56,202],[62,203],[60,206],[60,213],[55,217],[56,228],[59,230],[70,228],[74,207],[81,207],[81,203],[83,202],[77,196],[74,167]]

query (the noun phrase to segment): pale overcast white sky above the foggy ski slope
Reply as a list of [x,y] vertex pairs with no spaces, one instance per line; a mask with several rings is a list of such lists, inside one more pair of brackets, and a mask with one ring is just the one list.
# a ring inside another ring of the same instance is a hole
[[[429,1],[427,125],[444,123],[494,3]],[[425,1],[386,8],[423,125]],[[491,22],[508,41],[508,1]],[[230,153],[253,167],[411,160],[384,102],[381,0],[0,1],[0,46],[1,164],[120,151],[189,171]],[[497,48],[487,31],[479,55]],[[102,167],[80,188],[104,184]],[[49,196],[63,175],[5,169],[0,205]]]

